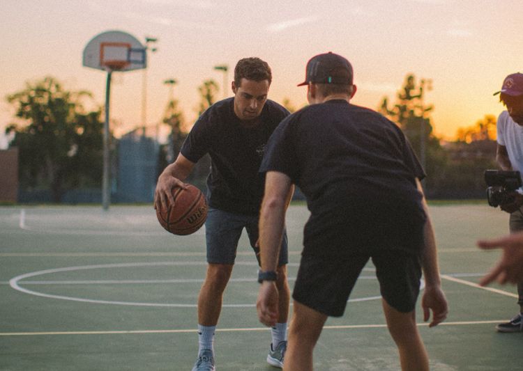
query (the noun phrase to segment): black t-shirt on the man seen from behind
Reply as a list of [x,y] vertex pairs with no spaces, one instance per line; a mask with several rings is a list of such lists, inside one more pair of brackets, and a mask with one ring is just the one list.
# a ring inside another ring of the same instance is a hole
[[[335,238],[351,242],[354,251],[377,235],[408,232],[413,223],[419,230],[426,220],[416,188],[416,177],[425,173],[401,129],[344,100],[312,104],[285,119],[260,171],[289,175],[305,194],[311,212],[305,251]],[[388,247],[410,251],[416,244],[394,240]]]

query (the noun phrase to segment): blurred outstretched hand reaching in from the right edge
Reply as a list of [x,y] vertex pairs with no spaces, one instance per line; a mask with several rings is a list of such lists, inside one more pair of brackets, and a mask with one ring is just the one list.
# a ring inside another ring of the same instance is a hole
[[483,250],[503,248],[497,265],[481,278],[479,282],[481,286],[486,286],[494,281],[504,285],[506,283],[516,284],[523,280],[523,232],[490,241],[478,241],[478,246]]

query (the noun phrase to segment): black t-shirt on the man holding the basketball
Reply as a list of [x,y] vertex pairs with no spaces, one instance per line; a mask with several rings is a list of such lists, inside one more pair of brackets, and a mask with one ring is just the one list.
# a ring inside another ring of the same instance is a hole
[[287,116],[287,109],[266,100],[259,125],[245,127],[234,113],[234,97],[202,113],[183,143],[181,154],[195,163],[206,153],[211,156],[209,206],[237,214],[259,214],[265,183],[259,166],[268,139]]

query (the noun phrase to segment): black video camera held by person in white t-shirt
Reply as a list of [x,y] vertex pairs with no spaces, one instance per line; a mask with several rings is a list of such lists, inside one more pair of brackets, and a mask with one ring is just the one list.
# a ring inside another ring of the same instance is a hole
[[485,170],[485,182],[487,200],[492,207],[513,203],[515,197],[511,193],[523,185],[519,171]]

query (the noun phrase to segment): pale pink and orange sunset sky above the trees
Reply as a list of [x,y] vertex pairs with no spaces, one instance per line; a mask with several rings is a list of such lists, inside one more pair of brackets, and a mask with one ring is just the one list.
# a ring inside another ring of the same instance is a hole
[[[305,64],[335,52],[354,67],[354,104],[395,102],[405,76],[432,80],[425,104],[438,136],[453,139],[503,106],[492,93],[507,74],[523,72],[523,1],[507,0],[17,0],[0,12],[0,148],[13,122],[8,94],[46,76],[68,90],[89,90],[105,102],[107,73],[82,66],[89,40],[109,30],[144,42],[158,38],[146,72],[146,125],[156,127],[169,100],[167,79],[190,125],[198,86],[227,84],[240,58],[259,56],[273,71],[269,98],[306,103]],[[113,74],[110,117],[117,136],[142,126],[144,72]],[[232,95],[228,86],[228,95]],[[218,92],[223,97],[223,91]]]

